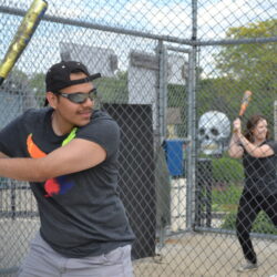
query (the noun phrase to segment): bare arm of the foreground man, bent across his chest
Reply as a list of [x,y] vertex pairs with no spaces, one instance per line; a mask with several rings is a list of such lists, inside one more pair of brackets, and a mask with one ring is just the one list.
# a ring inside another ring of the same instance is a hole
[[20,181],[44,182],[57,176],[75,173],[96,166],[106,157],[99,144],[74,138],[65,146],[41,158],[0,155],[0,176]]

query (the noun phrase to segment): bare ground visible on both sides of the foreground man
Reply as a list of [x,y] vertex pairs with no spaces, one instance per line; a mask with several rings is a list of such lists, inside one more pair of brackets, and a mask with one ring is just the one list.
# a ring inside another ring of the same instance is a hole
[[[28,248],[28,242],[38,227],[38,220],[0,222],[0,271],[19,265]],[[237,274],[236,267],[243,260],[243,254],[235,236],[204,233],[171,236],[156,249],[157,255],[154,258],[133,261],[135,277],[269,277],[276,275],[277,242],[255,238],[253,244],[260,263],[259,268],[249,274]],[[13,276],[0,274],[0,277]]]

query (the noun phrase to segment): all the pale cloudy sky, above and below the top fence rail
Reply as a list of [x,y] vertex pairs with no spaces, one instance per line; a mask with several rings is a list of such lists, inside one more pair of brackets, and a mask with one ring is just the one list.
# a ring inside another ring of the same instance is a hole
[[[27,10],[32,0],[0,0],[0,8],[6,6]],[[48,3],[47,16],[157,35],[171,35],[177,39],[189,40],[192,38],[191,0],[48,0]],[[222,40],[230,27],[276,19],[276,7],[277,0],[201,0],[197,2],[197,38],[199,40]],[[14,19],[7,14],[2,17],[2,20],[0,19],[0,58],[4,55],[19,25],[19,18]],[[122,59],[126,59],[131,48],[153,51],[155,47],[155,43],[150,40],[109,34],[42,22],[30,43],[32,47],[27,50],[29,51],[27,54],[33,57],[29,63],[38,61],[39,54],[42,53],[51,57],[51,60],[59,59],[58,40],[113,48],[119,55],[124,57]],[[40,49],[41,45],[44,47],[41,50],[42,53],[37,53],[38,57],[34,55],[35,49]],[[206,59],[212,59],[209,53]],[[120,62],[123,63],[123,61]],[[31,68],[37,71],[37,68]]]

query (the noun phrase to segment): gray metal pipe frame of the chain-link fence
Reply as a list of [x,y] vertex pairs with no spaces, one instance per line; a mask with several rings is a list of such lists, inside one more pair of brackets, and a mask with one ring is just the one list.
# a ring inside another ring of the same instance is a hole
[[[12,9],[9,7],[0,6],[0,13],[13,14],[23,17],[24,11],[19,9]],[[194,226],[194,217],[195,217],[195,184],[196,184],[196,160],[197,160],[197,122],[196,122],[196,94],[197,94],[197,65],[199,63],[198,60],[198,51],[202,48],[208,45],[230,45],[230,44],[253,44],[253,43],[268,43],[268,42],[277,42],[277,37],[273,38],[254,38],[254,39],[240,39],[240,40],[198,40],[197,39],[197,0],[192,1],[192,39],[179,39],[170,35],[156,35],[141,31],[134,30],[126,30],[121,28],[88,23],[84,21],[64,19],[59,17],[45,16],[42,20],[49,22],[57,22],[64,25],[73,25],[73,27],[82,27],[86,29],[126,34],[132,37],[138,38],[147,38],[157,41],[157,57],[160,63],[160,99],[158,99],[158,134],[156,135],[157,143],[161,143],[165,137],[165,129],[166,129],[166,82],[165,82],[165,74],[166,74],[166,54],[167,51],[176,51],[182,52],[188,55],[188,99],[187,99],[187,137],[185,138],[188,147],[187,147],[187,167],[186,167],[186,175],[187,175],[187,195],[186,195],[186,229],[183,232],[205,232],[205,233],[216,233],[216,234],[226,234],[226,235],[235,235],[235,232],[224,230],[214,227],[198,227]],[[176,43],[182,47],[168,47],[166,43]],[[25,186],[18,187],[16,189],[27,189]],[[13,207],[11,209],[14,209]],[[29,213],[29,212],[28,212]],[[29,215],[27,212],[23,212],[24,216]],[[19,212],[12,213],[11,217],[20,216],[22,213]],[[30,213],[31,216],[37,215],[35,212]],[[182,233],[182,232],[181,232]],[[162,237],[160,238],[160,247],[162,247],[163,242],[166,239],[166,234],[164,230],[161,230]],[[172,234],[171,234],[172,235]],[[170,236],[171,236],[170,235]],[[177,233],[175,234],[177,235]],[[253,234],[254,237],[257,238],[265,238],[265,239],[276,239],[277,236],[274,235],[263,235],[263,234]],[[10,274],[17,270],[17,268],[7,268],[0,269],[0,275],[2,274]]]

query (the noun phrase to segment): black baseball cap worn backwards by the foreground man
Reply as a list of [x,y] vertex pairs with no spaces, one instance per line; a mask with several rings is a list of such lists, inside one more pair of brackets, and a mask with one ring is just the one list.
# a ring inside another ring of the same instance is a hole
[[[80,71],[83,72],[86,78],[80,80],[70,80],[71,73]],[[100,73],[91,75],[86,66],[81,62],[62,61],[52,65],[48,70],[45,78],[47,92],[57,92],[70,85],[91,82],[98,78],[101,78]]]

